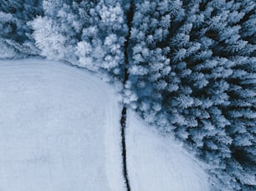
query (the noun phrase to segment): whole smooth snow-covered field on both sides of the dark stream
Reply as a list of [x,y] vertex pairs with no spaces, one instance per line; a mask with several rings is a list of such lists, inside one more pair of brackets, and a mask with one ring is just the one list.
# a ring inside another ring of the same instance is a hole
[[[0,62],[0,191],[123,191],[120,106],[110,85],[63,63]],[[132,191],[207,190],[172,139],[128,113]]]

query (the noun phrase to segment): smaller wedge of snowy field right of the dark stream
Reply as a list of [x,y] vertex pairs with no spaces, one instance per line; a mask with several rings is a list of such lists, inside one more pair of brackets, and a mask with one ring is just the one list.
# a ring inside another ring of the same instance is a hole
[[174,138],[127,113],[126,155],[132,191],[207,191],[202,163]]

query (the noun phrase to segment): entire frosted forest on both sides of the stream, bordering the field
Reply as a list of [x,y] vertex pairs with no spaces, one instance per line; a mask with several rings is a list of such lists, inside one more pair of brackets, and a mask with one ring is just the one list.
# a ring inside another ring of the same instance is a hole
[[255,0],[0,0],[1,59],[99,73],[213,190],[256,190],[255,43]]

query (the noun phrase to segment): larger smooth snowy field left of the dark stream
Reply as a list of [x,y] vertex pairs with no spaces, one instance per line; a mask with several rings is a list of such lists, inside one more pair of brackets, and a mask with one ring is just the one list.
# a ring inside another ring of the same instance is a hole
[[0,62],[0,191],[122,191],[110,85],[64,63]]

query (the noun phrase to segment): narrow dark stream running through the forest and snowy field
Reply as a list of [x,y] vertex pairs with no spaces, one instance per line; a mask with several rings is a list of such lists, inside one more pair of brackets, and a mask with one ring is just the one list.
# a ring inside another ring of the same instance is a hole
[[[129,66],[129,52],[130,52],[130,38],[131,38],[131,27],[132,27],[132,20],[133,20],[133,15],[134,15],[134,2],[131,0],[130,3],[130,8],[128,12],[126,13],[127,17],[127,25],[128,25],[128,34],[126,36],[125,40],[125,68],[124,68],[124,81],[123,84],[127,82],[129,79],[129,71],[128,71],[128,66]],[[126,143],[125,143],[125,128],[126,128],[126,110],[127,108],[125,105],[122,108],[122,113],[121,113],[121,118],[120,118],[120,125],[121,125],[121,137],[122,137],[122,160],[123,160],[123,175],[125,178],[125,185],[127,191],[131,191],[130,183],[129,183],[129,178],[128,178],[128,171],[127,171],[127,158],[126,158]]]

